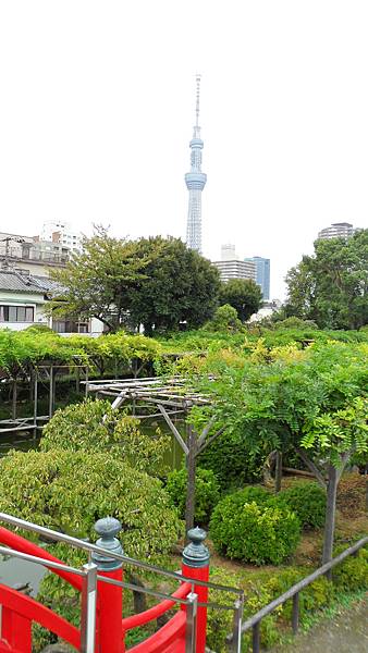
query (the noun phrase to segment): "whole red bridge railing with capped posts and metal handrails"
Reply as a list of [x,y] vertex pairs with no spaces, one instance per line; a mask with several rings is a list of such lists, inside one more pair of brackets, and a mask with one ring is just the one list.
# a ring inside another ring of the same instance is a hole
[[[132,653],[205,653],[208,590],[210,587],[233,592],[233,606],[217,606],[234,609],[234,637],[232,650],[240,652],[240,626],[242,619],[242,592],[234,588],[214,586],[209,582],[209,553],[204,544],[201,529],[193,529],[189,544],[183,552],[182,574],[154,567],[123,555],[115,535],[121,525],[112,518],[100,519],[96,530],[100,539],[90,544],[63,533],[17,519],[0,513],[0,520],[38,533],[51,541],[63,541],[72,546],[88,551],[91,562],[76,569],[64,565],[42,547],[25,538],[0,527],[0,554],[41,564],[81,592],[81,628],[76,628],[60,615],[34,599],[14,589],[0,584],[2,606],[0,653],[32,653],[32,624],[44,628],[66,641],[83,653],[124,653],[125,633],[156,620],[174,606],[180,609],[152,636],[136,644]],[[123,581],[123,563],[156,571],[176,580],[179,589],[173,594],[163,594]],[[163,599],[154,607],[139,614],[122,618],[123,589],[144,592]]]

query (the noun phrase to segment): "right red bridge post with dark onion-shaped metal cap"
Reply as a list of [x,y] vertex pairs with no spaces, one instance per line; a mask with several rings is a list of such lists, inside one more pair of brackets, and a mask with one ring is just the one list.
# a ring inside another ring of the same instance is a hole
[[[195,583],[196,580],[208,581],[209,579],[209,551],[204,544],[207,533],[197,527],[188,530],[187,535],[189,544],[183,551],[182,574],[183,576],[193,578],[194,587],[192,592],[197,594],[198,603],[207,603],[208,588]],[[196,626],[196,653],[205,653],[207,607],[198,606]]]

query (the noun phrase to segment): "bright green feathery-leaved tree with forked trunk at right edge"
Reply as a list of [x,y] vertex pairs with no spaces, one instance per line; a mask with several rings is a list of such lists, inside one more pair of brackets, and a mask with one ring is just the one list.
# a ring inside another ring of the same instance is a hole
[[[256,356],[255,356],[256,355]],[[293,447],[327,490],[323,562],[331,558],[338,483],[355,453],[368,451],[367,345],[331,343],[263,353],[242,368],[211,360],[217,427],[225,424],[249,458]],[[198,419],[198,418],[197,418]]]

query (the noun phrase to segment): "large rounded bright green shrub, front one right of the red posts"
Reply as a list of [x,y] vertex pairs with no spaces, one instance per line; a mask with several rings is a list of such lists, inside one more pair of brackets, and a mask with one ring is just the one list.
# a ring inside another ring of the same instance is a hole
[[298,518],[285,506],[256,503],[243,492],[225,496],[212,513],[210,534],[216,550],[249,563],[281,564],[299,541]]

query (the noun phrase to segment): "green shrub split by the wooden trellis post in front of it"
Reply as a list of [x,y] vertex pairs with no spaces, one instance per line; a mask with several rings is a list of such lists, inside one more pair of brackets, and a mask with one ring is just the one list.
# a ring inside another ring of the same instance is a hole
[[[175,469],[168,476],[167,492],[180,516],[184,518],[186,500],[187,471],[185,468]],[[211,512],[220,500],[219,482],[211,469],[197,467],[196,470],[196,502],[195,520],[208,523]]]

